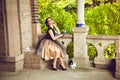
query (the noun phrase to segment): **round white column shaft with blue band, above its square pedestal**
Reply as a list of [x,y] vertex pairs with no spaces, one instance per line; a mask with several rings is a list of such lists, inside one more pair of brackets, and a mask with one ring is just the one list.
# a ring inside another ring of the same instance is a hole
[[78,0],[77,2],[77,24],[76,27],[85,26],[84,21],[84,0]]

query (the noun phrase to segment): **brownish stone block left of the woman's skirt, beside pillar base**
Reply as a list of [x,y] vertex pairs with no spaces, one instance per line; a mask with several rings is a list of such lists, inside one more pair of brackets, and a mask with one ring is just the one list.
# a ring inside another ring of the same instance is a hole
[[25,69],[40,69],[47,67],[48,62],[43,61],[40,55],[35,54],[35,51],[25,52],[24,68]]

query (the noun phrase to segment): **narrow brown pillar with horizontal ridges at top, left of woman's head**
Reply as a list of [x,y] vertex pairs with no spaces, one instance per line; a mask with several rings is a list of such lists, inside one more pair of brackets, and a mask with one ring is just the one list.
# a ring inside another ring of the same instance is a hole
[[30,0],[32,13],[32,43],[36,46],[38,42],[38,35],[41,33],[39,18],[38,18],[38,1]]

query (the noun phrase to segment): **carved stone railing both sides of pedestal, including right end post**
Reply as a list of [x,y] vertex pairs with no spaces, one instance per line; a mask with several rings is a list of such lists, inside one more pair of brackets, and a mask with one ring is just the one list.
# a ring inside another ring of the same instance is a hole
[[[67,45],[73,41],[72,35],[66,35],[65,37],[59,39],[65,48]],[[93,36],[87,35],[86,37],[87,43],[91,43],[94,45],[97,51],[97,56],[94,59],[94,64],[96,68],[110,68],[112,71],[116,71],[115,76],[120,78],[120,36]],[[100,46],[101,44],[101,46]],[[116,56],[114,58],[105,58],[104,50],[110,45],[115,45],[115,53]]]

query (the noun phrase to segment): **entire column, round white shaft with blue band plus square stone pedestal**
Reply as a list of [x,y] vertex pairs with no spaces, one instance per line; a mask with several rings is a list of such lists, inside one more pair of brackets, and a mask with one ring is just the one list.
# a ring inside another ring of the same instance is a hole
[[85,68],[88,65],[86,36],[88,27],[85,26],[84,21],[84,0],[77,2],[77,24],[73,28],[73,42],[74,42],[74,61],[77,67]]

